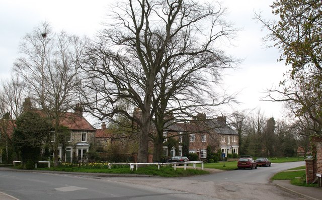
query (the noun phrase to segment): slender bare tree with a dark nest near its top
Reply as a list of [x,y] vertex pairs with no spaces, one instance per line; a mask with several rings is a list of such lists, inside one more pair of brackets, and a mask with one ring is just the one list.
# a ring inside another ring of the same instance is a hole
[[[22,56],[15,63],[15,72],[26,81],[26,90],[35,106],[53,122],[57,138],[61,116],[77,101],[78,60],[84,46],[85,39],[65,32],[56,34],[48,23],[27,34],[20,45]],[[52,141],[49,133],[48,140]],[[55,165],[58,165],[58,143],[58,140],[50,142]]]

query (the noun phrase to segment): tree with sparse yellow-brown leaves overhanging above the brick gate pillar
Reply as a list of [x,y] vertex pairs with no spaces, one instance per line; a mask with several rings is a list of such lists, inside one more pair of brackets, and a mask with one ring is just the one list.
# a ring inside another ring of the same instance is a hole
[[[321,134],[321,1],[275,1],[271,6],[278,22],[256,18],[270,33],[265,42],[282,51],[280,61],[291,66],[281,88],[268,92],[268,101],[285,102],[293,116],[312,122]],[[279,95],[281,94],[281,95]],[[304,123],[305,124],[305,123]]]

